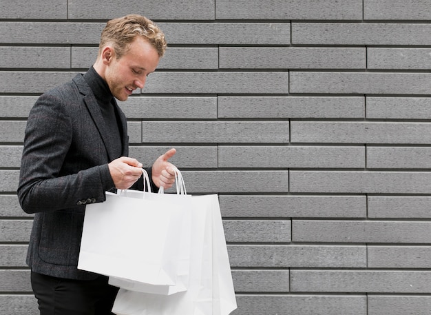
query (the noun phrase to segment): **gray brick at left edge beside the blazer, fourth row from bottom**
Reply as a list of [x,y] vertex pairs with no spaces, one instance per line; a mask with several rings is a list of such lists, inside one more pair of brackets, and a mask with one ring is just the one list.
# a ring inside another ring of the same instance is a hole
[[28,242],[32,220],[0,220],[0,242]]

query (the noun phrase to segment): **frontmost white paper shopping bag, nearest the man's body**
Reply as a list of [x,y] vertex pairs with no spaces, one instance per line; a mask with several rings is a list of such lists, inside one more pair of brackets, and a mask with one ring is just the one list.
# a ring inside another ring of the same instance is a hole
[[147,285],[176,285],[178,236],[187,209],[167,194],[133,195],[107,193],[105,202],[87,205],[78,269]]

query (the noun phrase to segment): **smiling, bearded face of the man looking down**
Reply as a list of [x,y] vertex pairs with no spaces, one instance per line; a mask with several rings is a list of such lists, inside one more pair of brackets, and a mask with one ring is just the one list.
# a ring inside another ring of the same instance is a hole
[[160,57],[146,39],[137,37],[120,59],[109,59],[105,80],[112,94],[125,101],[133,90],[144,88],[147,76],[156,70]]

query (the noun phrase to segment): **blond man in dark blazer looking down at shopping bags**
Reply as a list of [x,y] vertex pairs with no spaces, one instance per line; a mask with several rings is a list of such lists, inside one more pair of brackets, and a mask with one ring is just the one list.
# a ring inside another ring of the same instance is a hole
[[[27,263],[41,315],[112,314],[117,289],[107,277],[77,269],[85,205],[105,201],[113,189],[143,189],[143,165],[127,157],[125,101],[156,70],[164,34],[149,19],[108,21],[96,62],[40,96],[25,130],[18,196],[34,213]],[[160,156],[147,170],[153,190],[175,181]]]

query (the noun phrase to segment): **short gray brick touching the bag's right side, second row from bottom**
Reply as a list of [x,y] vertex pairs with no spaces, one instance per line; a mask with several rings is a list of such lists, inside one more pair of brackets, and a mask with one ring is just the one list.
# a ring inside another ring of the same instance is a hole
[[288,270],[233,271],[235,292],[288,292]]

